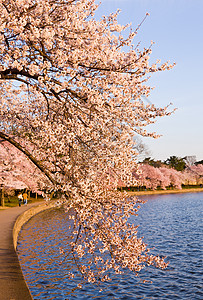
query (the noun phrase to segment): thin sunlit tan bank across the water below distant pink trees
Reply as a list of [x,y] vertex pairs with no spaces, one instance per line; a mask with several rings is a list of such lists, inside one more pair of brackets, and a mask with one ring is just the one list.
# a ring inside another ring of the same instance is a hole
[[191,188],[181,190],[155,190],[155,191],[137,191],[128,192],[130,196],[143,196],[143,195],[163,195],[163,194],[181,194],[181,193],[203,193],[203,188]]

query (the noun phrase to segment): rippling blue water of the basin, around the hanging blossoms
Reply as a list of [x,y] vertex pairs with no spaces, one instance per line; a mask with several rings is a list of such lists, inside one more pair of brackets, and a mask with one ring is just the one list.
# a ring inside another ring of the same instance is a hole
[[68,249],[69,219],[62,209],[45,211],[32,218],[19,236],[18,255],[34,299],[203,299],[203,193],[145,196],[139,216],[139,235],[153,254],[167,256],[167,270],[152,267],[141,271],[142,283],[131,272],[112,275],[103,291],[93,284],[77,288],[80,277],[68,279],[74,268],[63,260],[60,248]]

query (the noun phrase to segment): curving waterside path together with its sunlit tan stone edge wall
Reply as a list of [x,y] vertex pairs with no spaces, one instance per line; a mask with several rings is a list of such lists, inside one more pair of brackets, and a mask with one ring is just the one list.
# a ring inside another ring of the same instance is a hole
[[18,234],[34,215],[54,207],[54,202],[32,203],[22,207],[2,209],[0,212],[0,290],[1,300],[32,300],[33,297],[22,273],[16,252]]

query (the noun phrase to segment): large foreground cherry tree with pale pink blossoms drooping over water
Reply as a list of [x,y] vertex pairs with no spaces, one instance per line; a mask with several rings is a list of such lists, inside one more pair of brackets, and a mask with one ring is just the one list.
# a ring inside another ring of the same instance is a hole
[[[118,13],[95,20],[96,9],[94,0],[0,1],[0,137],[74,210],[70,255],[90,282],[108,280],[111,269],[166,266],[128,223],[137,199],[116,185],[134,184],[133,136],[157,137],[146,126],[170,114],[141,97],[150,74],[172,67],[150,65],[151,45],[133,45],[140,26],[124,37]],[[113,187],[101,176],[110,169],[119,174]]]

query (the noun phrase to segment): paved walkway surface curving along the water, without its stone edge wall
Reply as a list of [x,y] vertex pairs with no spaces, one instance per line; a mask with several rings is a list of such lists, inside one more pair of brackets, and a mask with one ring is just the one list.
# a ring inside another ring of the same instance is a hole
[[0,210],[0,300],[32,299],[13,246],[13,227],[21,213],[37,205]]

